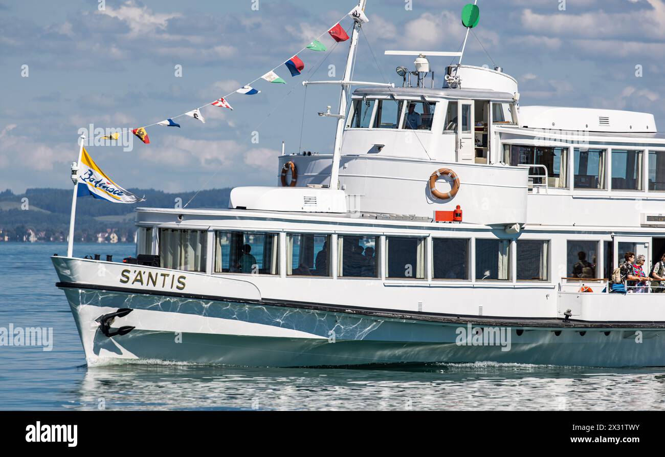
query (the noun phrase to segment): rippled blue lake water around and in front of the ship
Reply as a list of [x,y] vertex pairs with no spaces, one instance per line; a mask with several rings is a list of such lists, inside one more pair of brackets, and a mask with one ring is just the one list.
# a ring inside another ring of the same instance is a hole
[[[475,363],[356,369],[120,365],[88,369],[50,255],[0,243],[0,327],[53,327],[53,351],[0,347],[0,409],[663,410],[665,369]],[[114,260],[134,245],[76,245]]]

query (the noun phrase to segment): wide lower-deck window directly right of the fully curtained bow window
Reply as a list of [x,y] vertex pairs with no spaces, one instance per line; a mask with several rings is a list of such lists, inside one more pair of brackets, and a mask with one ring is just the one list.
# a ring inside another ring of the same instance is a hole
[[215,235],[215,273],[277,275],[277,233],[218,231]]

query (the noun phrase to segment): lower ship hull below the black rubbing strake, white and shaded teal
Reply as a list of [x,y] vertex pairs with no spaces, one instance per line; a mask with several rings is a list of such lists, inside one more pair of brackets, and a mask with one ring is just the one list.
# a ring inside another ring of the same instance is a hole
[[[332,367],[398,363],[527,363],[595,367],[665,365],[665,331],[654,328],[487,327],[192,299],[63,285],[88,365],[200,363]],[[315,304],[312,304],[315,305]],[[100,316],[132,309],[106,337]],[[495,337],[484,338],[492,333]]]

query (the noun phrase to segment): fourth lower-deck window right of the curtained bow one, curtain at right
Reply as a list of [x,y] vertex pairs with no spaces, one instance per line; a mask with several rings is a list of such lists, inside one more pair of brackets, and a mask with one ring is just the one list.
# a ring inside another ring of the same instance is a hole
[[392,279],[425,277],[425,239],[386,237],[387,276]]

